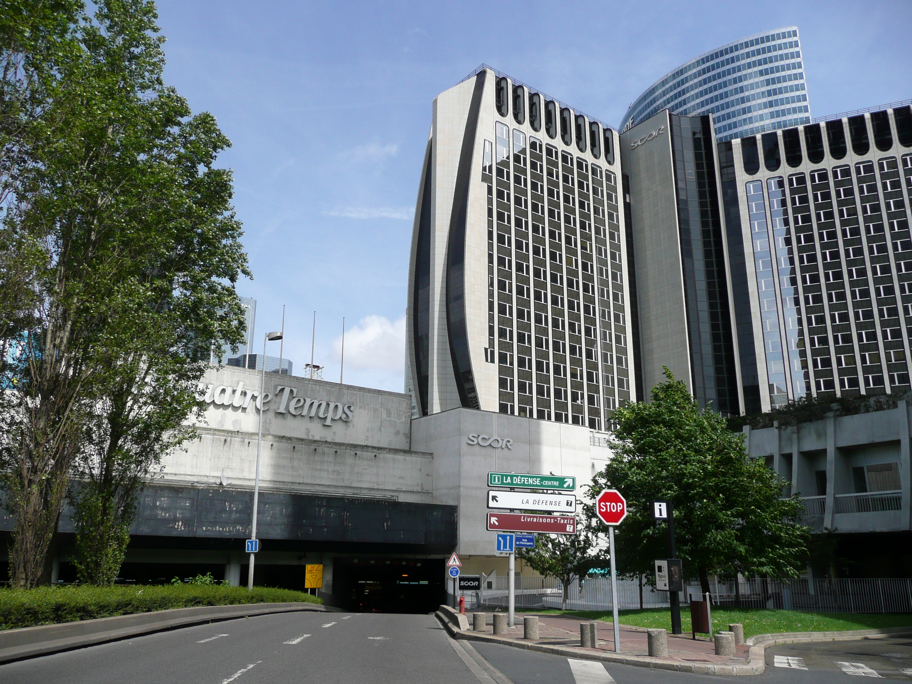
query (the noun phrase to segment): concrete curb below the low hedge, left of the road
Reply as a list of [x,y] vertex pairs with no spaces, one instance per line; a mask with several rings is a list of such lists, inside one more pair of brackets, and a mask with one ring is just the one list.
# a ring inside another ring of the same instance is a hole
[[180,627],[299,611],[341,612],[341,609],[304,602],[193,606],[115,617],[97,617],[57,625],[5,629],[0,631],[0,664]]

